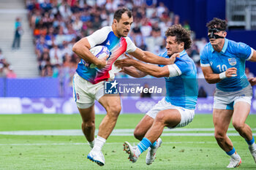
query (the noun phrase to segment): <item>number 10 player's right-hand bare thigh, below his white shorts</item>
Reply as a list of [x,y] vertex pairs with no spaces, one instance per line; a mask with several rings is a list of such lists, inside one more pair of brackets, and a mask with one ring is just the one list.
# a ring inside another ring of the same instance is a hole
[[249,115],[251,105],[244,101],[238,101],[234,105],[233,122],[245,123]]

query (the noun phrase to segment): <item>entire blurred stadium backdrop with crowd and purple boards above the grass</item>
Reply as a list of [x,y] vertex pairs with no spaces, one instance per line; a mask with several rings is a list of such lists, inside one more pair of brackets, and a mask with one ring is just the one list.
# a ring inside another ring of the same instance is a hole
[[[134,15],[129,36],[143,50],[156,54],[165,51],[165,30],[173,24],[192,31],[193,45],[187,53],[197,64],[202,96],[208,96],[198,101],[197,112],[211,112],[214,93],[199,64],[200,49],[208,42],[206,23],[215,17],[227,19],[227,38],[256,49],[256,39],[252,38],[256,37],[256,0],[1,0],[0,49],[8,63],[1,63],[0,53],[0,113],[1,108],[9,108],[12,113],[15,107],[15,103],[3,99],[6,97],[20,102],[19,113],[78,112],[72,101],[72,76],[80,58],[72,53],[72,45],[102,26],[110,26],[113,12],[124,6],[132,9]],[[21,18],[23,35],[20,49],[12,50],[17,17]],[[2,76],[2,67],[9,72],[10,64],[19,79]],[[249,71],[256,75],[254,64],[246,62]],[[116,77],[130,78],[122,73]],[[153,101],[123,98],[127,106],[140,108],[124,112],[146,112]],[[30,107],[26,107],[28,104]],[[31,109],[37,104],[47,111]],[[252,106],[256,112],[256,101]]]

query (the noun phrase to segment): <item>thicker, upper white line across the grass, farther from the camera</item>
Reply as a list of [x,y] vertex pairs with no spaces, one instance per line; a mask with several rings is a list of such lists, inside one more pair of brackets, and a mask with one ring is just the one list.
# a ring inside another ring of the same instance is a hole
[[[252,131],[255,131],[256,128],[252,128]],[[116,129],[112,132],[111,136],[133,136],[134,129]],[[171,131],[211,131],[212,133],[170,133]],[[230,128],[229,131],[235,131],[234,128]],[[169,132],[169,133],[166,133]],[[214,136],[214,128],[175,128],[175,129],[164,129],[162,136]],[[98,130],[95,131],[95,134],[98,133]],[[70,129],[70,130],[40,130],[40,131],[0,131],[0,134],[4,135],[44,135],[44,136],[83,136],[81,130]],[[239,136],[236,133],[229,133],[229,136]],[[255,134],[254,134],[255,135]]]

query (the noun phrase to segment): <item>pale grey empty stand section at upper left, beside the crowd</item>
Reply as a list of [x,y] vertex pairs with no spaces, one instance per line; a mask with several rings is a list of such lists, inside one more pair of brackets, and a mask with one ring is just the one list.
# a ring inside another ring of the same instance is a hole
[[[15,34],[15,18],[21,18],[23,35],[20,49],[12,50]],[[17,77],[38,77],[37,60],[34,54],[33,37],[27,20],[26,4],[21,0],[0,1],[0,49],[12,64]]]

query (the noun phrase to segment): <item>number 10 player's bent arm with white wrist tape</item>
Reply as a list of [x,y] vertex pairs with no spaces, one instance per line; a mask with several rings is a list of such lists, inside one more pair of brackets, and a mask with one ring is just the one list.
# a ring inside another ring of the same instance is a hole
[[220,82],[222,79],[228,78],[228,77],[236,77],[236,68],[232,67],[227,69],[225,72],[222,72],[220,74],[215,74],[212,69],[211,66],[201,66],[202,71],[203,71],[203,75],[206,78],[206,82],[208,82],[209,84],[214,84],[217,82]]

